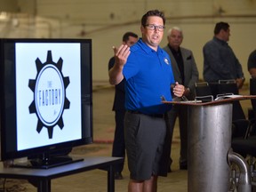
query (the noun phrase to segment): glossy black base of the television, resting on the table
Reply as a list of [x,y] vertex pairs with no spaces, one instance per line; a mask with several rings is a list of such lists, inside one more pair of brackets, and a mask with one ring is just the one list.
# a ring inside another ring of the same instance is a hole
[[47,158],[28,159],[27,162],[13,164],[12,167],[49,169],[52,167],[56,167],[64,164],[72,164],[79,161],[84,161],[84,158],[76,158],[71,156],[49,156]]

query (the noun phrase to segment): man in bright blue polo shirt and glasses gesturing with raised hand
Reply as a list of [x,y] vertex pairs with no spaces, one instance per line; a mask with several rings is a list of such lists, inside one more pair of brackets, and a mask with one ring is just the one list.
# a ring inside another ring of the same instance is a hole
[[164,114],[172,106],[163,104],[161,98],[172,100],[172,84],[174,95],[181,97],[184,86],[174,82],[169,55],[159,47],[164,23],[163,12],[153,10],[144,14],[142,38],[131,49],[124,44],[114,48],[115,65],[109,70],[110,84],[126,79],[124,140],[130,171],[129,192],[156,191],[158,175],[166,176],[168,172]]

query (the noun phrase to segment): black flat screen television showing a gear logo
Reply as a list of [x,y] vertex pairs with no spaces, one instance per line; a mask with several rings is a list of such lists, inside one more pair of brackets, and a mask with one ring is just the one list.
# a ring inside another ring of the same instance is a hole
[[92,40],[0,39],[0,93],[1,161],[72,162],[93,140]]

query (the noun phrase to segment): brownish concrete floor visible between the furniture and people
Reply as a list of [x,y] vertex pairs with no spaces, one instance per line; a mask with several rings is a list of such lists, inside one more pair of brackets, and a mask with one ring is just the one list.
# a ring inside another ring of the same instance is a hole
[[[248,88],[240,94],[248,94]],[[115,131],[114,112],[111,111],[114,98],[114,89],[110,86],[94,86],[93,88],[93,132],[94,143],[91,145],[74,148],[72,153],[83,156],[111,156],[112,140]],[[247,108],[251,107],[249,100],[242,101],[244,113],[247,116]],[[172,140],[172,172],[166,178],[159,178],[158,191],[185,192],[188,191],[188,172],[179,170],[180,136],[176,123]],[[125,161],[125,163],[127,163]],[[124,180],[116,180],[116,192],[127,191],[129,172],[127,164],[124,167]],[[18,181],[17,181],[18,182]],[[13,188],[15,181],[6,182],[6,188]],[[17,183],[16,183],[17,184]],[[20,181],[20,189],[7,191],[36,191],[26,180]],[[94,170],[70,175],[52,180],[52,192],[103,192],[107,191],[107,172]]]

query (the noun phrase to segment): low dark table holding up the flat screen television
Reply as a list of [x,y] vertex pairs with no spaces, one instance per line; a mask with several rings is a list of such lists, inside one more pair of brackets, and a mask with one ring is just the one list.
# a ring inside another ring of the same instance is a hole
[[123,157],[92,156],[84,161],[60,165],[50,169],[0,168],[0,178],[36,180],[37,192],[51,192],[51,180],[63,176],[100,169],[108,172],[108,192],[115,191],[114,165],[120,164]]

